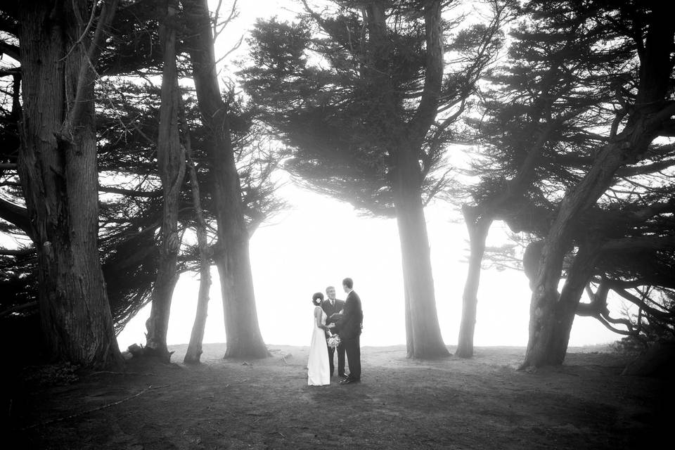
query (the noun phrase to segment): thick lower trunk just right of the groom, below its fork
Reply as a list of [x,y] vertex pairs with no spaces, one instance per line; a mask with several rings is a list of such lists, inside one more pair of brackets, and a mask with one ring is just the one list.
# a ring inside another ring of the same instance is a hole
[[406,343],[409,358],[447,356],[436,311],[434,278],[420,173],[415,152],[397,153],[394,171],[394,206],[401,242],[406,299]]

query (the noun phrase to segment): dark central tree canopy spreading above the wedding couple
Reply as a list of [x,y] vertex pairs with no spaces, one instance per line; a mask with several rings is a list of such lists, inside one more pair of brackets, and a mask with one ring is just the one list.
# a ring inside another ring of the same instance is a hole
[[[384,2],[381,39],[367,31],[375,19],[349,1],[335,2],[330,15],[259,22],[250,39],[253,64],[241,72],[275,136],[295,149],[285,168],[316,191],[372,214],[394,214],[393,153],[423,114],[430,68],[418,3]],[[446,15],[453,18],[442,22],[442,46],[453,63],[428,112],[437,122],[421,141],[403,144],[418,152],[425,203],[448,181],[438,169],[452,124],[501,45],[494,23],[460,28],[462,17]]]

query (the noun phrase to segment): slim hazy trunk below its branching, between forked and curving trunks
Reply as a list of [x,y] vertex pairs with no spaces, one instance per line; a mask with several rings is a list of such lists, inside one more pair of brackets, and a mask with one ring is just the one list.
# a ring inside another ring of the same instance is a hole
[[470,358],[473,356],[473,335],[476,326],[476,308],[478,304],[478,286],[480,285],[480,266],[485,252],[485,240],[492,224],[489,216],[480,217],[476,208],[462,208],[466,228],[469,231],[469,269],[466,274],[464,293],[462,296],[462,321],[459,328],[456,356]]

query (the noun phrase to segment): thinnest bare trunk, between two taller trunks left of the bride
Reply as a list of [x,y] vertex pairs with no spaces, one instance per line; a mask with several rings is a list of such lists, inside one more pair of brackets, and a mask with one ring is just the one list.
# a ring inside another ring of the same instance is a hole
[[[181,112],[184,110],[181,108]],[[211,249],[207,242],[206,221],[202,211],[202,203],[199,193],[199,181],[197,179],[197,169],[192,159],[192,145],[190,142],[190,133],[188,131],[187,123],[184,123],[185,135],[185,150],[186,159],[188,161],[188,169],[190,172],[190,183],[192,187],[192,205],[195,210],[197,245],[199,248],[199,294],[197,297],[197,312],[195,314],[195,323],[192,327],[190,335],[190,343],[185,353],[183,361],[186,364],[199,364],[200,356],[202,354],[202,342],[204,340],[204,330],[206,328],[206,318],[209,309],[209,290],[211,288]]]

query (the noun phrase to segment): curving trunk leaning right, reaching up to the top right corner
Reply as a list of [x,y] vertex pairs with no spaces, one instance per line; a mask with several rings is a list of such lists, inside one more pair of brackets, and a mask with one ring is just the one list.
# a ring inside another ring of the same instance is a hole
[[550,364],[550,355],[558,351],[554,344],[555,311],[559,301],[556,288],[572,227],[584,210],[596,203],[610,186],[619,167],[643,158],[658,130],[675,114],[675,104],[666,101],[672,70],[670,53],[675,34],[675,23],[671,20],[673,13],[675,7],[671,2],[654,3],[644,49],[641,51],[638,94],[626,127],[598,152],[584,179],[565,194],[546,237],[534,281],[529,340],[521,368]]

